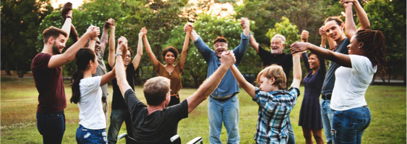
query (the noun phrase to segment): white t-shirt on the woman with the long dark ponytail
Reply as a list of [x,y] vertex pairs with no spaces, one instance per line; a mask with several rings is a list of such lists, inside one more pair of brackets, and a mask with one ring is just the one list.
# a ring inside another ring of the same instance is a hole
[[87,129],[105,129],[106,118],[102,108],[102,76],[84,78],[79,82],[81,99],[78,102],[79,124]]

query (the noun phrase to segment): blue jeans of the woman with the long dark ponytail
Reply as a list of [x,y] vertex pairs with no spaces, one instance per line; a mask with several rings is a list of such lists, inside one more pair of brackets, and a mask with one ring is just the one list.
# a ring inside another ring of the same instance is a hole
[[75,137],[78,144],[107,144],[106,129],[86,129],[79,125]]

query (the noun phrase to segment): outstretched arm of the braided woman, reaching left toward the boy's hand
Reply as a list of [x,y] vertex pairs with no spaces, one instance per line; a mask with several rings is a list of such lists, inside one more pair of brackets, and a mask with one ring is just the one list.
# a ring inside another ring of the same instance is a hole
[[305,50],[309,50],[316,54],[318,58],[324,58],[327,60],[331,60],[343,67],[352,67],[350,63],[350,58],[346,54],[341,54],[339,52],[332,52],[328,49],[324,49],[322,47],[317,47],[311,43],[304,43],[304,42],[296,42],[290,45],[291,54],[295,54],[297,52],[303,52]]

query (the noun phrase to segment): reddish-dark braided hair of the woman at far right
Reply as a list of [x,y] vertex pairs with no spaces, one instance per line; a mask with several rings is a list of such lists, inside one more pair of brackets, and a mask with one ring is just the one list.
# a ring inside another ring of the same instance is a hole
[[369,58],[373,66],[378,67],[379,73],[386,73],[386,43],[380,30],[359,30],[356,33],[357,41],[363,42],[363,56]]

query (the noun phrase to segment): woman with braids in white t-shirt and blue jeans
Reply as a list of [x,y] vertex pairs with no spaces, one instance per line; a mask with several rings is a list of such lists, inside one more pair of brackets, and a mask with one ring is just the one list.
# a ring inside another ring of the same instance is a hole
[[365,92],[376,71],[385,73],[385,38],[380,30],[357,31],[352,17],[352,4],[355,0],[341,2],[346,8],[346,35],[351,37],[349,55],[332,52],[311,43],[297,42],[290,47],[293,54],[308,49],[318,57],[341,65],[335,71],[336,80],[330,103],[333,110],[330,131],[336,144],[361,144],[363,131],[369,126],[371,118]]

